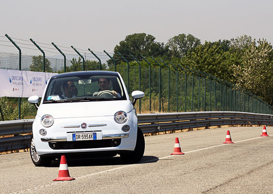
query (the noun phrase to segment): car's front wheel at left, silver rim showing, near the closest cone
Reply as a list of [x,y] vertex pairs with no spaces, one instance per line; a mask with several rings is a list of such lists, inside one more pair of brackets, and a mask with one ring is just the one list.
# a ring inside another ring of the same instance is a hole
[[35,149],[33,135],[31,136],[30,154],[31,154],[31,160],[35,166],[49,166],[50,163],[52,162],[51,158],[45,158],[45,157],[38,156],[36,149]]

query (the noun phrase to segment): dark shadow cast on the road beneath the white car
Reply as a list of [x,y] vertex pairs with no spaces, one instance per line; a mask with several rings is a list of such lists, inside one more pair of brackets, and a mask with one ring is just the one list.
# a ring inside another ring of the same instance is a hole
[[[139,164],[141,163],[153,163],[159,159],[155,156],[143,156]],[[126,165],[119,156],[111,158],[67,158],[68,166],[104,166],[104,165]],[[60,160],[51,162],[49,167],[59,167]]]

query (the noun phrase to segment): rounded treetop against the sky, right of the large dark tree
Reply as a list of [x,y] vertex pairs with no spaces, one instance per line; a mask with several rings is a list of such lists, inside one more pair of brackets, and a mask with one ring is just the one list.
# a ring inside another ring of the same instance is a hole
[[167,43],[169,52],[172,57],[182,58],[188,51],[201,45],[201,40],[194,37],[192,34],[178,34],[168,40]]

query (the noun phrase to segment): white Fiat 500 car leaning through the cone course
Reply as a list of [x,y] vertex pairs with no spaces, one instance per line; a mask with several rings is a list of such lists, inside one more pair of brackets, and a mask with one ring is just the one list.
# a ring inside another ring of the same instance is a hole
[[31,159],[36,166],[49,165],[61,155],[113,157],[139,162],[144,137],[137,127],[134,105],[144,97],[132,93],[131,101],[118,72],[78,71],[50,78],[40,105],[29,97],[37,115],[33,123]]

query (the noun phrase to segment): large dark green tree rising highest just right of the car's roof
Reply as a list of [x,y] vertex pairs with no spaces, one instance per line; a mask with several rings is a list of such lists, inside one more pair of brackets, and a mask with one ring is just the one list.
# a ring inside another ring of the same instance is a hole
[[[168,54],[168,48],[164,46],[162,42],[156,42],[155,37],[146,33],[134,33],[127,35],[124,40],[119,42],[114,48],[113,58],[115,60],[122,60],[121,53],[127,61],[134,61],[130,56],[130,53],[136,57],[141,58],[142,56],[164,56]],[[108,64],[112,65],[112,60],[107,61]]]

